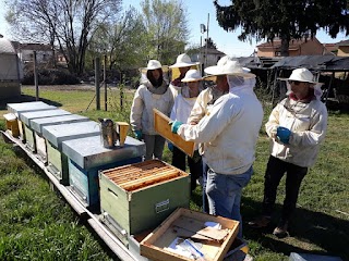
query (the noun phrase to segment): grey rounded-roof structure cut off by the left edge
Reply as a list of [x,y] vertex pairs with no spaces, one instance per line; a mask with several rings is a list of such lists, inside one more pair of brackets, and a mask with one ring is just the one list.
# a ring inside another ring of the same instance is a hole
[[0,99],[21,96],[22,65],[10,40],[0,35]]

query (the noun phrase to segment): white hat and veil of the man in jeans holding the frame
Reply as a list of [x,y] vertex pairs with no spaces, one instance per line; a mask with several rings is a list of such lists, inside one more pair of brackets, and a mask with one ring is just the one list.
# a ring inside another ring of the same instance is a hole
[[207,76],[204,76],[205,80],[216,80],[219,75],[227,75],[229,84],[229,90],[243,87],[253,89],[255,86],[255,74],[250,73],[251,70],[243,67],[238,60],[228,55],[222,57],[217,65],[206,67],[204,70]]

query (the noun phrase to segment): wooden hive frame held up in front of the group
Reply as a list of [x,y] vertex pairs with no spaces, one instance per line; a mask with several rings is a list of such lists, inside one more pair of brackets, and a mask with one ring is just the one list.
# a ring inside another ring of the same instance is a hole
[[185,154],[193,157],[195,144],[193,141],[185,141],[181,136],[171,132],[169,122],[171,121],[160,111],[153,109],[154,111],[154,128],[167,140],[171,141],[177,148],[182,150]]

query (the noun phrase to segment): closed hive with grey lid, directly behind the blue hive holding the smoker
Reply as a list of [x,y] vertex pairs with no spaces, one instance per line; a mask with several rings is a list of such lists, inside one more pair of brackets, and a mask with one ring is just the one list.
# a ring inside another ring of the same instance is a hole
[[62,153],[62,142],[99,134],[99,124],[93,121],[44,126],[43,137],[46,140],[49,172],[62,184],[69,185],[68,158]]

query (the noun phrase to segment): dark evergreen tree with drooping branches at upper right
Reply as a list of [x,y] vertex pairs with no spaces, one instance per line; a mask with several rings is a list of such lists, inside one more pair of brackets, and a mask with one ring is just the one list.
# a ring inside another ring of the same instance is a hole
[[347,0],[231,0],[221,7],[215,0],[217,21],[225,30],[241,27],[240,40],[257,41],[275,37],[281,40],[281,55],[288,55],[291,39],[313,38],[320,28],[333,38],[339,32],[348,35]]

